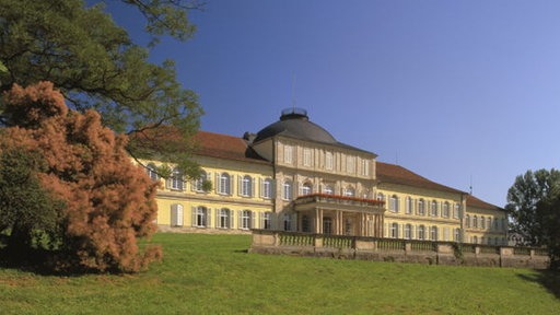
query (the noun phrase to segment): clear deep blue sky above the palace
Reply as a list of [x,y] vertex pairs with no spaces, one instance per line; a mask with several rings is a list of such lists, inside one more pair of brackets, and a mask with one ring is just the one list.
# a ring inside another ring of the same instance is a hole
[[[165,39],[203,130],[242,136],[283,108],[345,142],[503,207],[559,168],[560,1],[208,0]],[[115,19],[142,44],[131,11]]]

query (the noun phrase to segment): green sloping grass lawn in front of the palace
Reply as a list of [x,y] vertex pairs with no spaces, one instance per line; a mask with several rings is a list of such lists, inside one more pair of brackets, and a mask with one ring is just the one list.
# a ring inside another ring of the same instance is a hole
[[0,314],[558,314],[560,275],[247,254],[246,235],[156,234],[139,275],[0,269]]

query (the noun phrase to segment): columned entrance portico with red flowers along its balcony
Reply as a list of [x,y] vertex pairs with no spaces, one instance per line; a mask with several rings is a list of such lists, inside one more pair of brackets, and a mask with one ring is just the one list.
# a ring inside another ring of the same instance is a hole
[[383,236],[384,201],[314,194],[294,201],[300,232]]

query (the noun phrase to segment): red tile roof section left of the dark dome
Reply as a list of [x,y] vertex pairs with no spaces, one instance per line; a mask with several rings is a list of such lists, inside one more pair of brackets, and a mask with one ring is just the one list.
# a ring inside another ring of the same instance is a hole
[[197,148],[195,149],[196,155],[252,163],[269,163],[265,159],[258,156],[253,149],[248,148],[247,142],[242,138],[208,131],[198,131],[198,133],[195,135],[195,141],[197,143]]

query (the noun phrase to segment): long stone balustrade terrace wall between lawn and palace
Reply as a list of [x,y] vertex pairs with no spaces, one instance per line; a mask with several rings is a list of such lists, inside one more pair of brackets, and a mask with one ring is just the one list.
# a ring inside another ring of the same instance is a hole
[[448,266],[546,269],[546,250],[413,240],[253,230],[249,253]]

